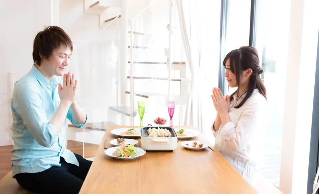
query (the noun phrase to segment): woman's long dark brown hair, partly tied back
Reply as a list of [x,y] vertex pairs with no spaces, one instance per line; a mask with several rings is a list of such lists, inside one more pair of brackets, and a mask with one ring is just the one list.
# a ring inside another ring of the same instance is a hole
[[263,73],[263,68],[259,66],[259,57],[257,49],[252,46],[244,46],[229,52],[223,61],[224,67],[226,67],[227,59],[229,59],[230,62],[231,72],[233,72],[236,75],[236,86],[238,86],[237,90],[232,95],[230,95],[230,101],[234,99],[234,94],[237,95],[236,101],[239,99],[238,91],[241,72],[249,68],[252,70],[249,79],[248,91],[246,92],[247,94],[241,101],[241,103],[234,106],[234,108],[240,108],[246,102],[246,100],[252,95],[255,89],[258,89],[259,93],[267,99],[266,88],[263,85],[263,82],[259,76]]

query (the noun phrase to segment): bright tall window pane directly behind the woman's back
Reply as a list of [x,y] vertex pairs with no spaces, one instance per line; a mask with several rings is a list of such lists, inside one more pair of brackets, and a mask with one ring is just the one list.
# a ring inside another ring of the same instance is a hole
[[290,22],[290,0],[256,1],[253,46],[257,48],[267,90],[269,124],[261,174],[279,187],[283,114],[286,88],[286,61]]

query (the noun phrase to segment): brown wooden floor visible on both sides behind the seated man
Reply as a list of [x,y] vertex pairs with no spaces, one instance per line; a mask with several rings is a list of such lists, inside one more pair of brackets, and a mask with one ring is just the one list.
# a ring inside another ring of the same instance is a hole
[[[11,171],[11,149],[13,146],[0,146],[0,179]],[[84,157],[92,158],[95,156],[99,145],[84,143]],[[67,149],[83,156],[83,144],[80,141],[68,140]]]

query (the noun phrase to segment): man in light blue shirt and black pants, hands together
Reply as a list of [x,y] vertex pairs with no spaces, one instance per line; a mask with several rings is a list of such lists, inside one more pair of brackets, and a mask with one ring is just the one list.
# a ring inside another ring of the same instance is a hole
[[33,42],[32,69],[14,86],[12,177],[26,190],[78,193],[92,164],[65,147],[66,118],[78,127],[87,120],[75,100],[77,80],[64,74],[72,49],[63,29],[46,27]]

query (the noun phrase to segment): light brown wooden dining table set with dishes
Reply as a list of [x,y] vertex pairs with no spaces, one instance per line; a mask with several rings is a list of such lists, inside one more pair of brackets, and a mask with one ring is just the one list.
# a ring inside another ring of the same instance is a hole
[[[181,145],[186,140],[204,140],[209,143],[204,135],[179,139],[173,151],[146,151],[145,155],[132,160],[118,160],[104,153],[105,140],[107,147],[112,147],[110,140],[118,137],[111,133],[116,128],[133,126],[106,128],[80,194],[257,193],[212,145],[212,149],[207,147],[202,150],[190,150]],[[140,138],[136,140],[138,144],[135,146],[139,147]]]

